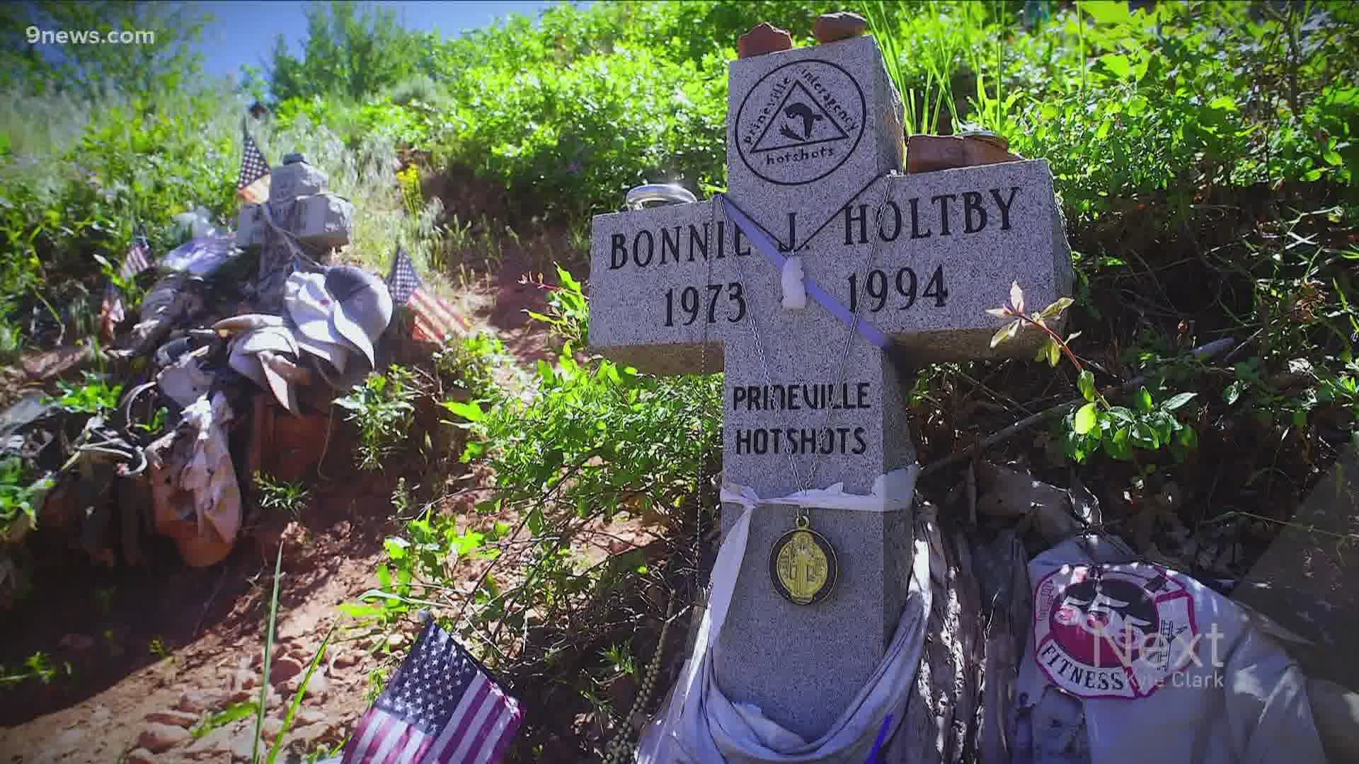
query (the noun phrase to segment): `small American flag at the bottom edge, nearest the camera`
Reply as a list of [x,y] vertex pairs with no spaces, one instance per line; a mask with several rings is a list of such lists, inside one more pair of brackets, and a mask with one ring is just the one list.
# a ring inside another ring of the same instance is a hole
[[359,720],[341,761],[495,764],[522,720],[519,701],[431,620]]

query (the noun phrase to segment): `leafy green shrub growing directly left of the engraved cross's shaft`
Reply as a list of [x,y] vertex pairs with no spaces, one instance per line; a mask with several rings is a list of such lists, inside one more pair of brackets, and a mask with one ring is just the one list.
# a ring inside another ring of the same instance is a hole
[[[569,303],[579,283],[564,281]],[[563,336],[583,336],[583,310],[553,311]],[[466,629],[508,627],[516,639],[525,628],[556,623],[560,613],[617,575],[636,574],[640,561],[583,566],[571,552],[580,529],[618,513],[651,522],[681,523],[680,513],[699,489],[700,465],[720,451],[722,375],[650,377],[601,358],[578,362],[568,343],[556,366],[538,362],[526,398],[495,396],[482,401],[447,401],[457,423],[472,431],[463,461],[481,461],[495,473],[495,496],[478,513],[514,508],[533,541],[523,553],[516,583],[501,590],[488,574],[472,594]],[[500,541],[514,536],[503,522],[473,529],[474,517],[432,511],[412,521],[406,533],[386,542],[387,564],[378,578],[383,604],[349,612],[397,620],[412,608],[450,597],[453,566],[463,559],[495,559]],[[516,530],[516,529],[515,529]],[[631,557],[629,557],[631,560]],[[461,602],[462,594],[451,595]],[[453,601],[447,602],[455,606]],[[499,651],[504,646],[492,644]]]

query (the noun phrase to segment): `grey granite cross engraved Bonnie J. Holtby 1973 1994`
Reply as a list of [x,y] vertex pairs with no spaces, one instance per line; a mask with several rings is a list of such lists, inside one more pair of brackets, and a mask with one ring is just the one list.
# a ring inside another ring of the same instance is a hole
[[[985,309],[1011,281],[1038,306],[1070,292],[1052,175],[1044,160],[901,175],[902,105],[871,37],[733,61],[728,82],[726,197],[594,219],[591,345],[640,371],[726,372],[727,484],[868,493],[915,462],[889,356],[1037,349],[1029,333],[992,351]],[[713,666],[731,700],[810,741],[893,638],[913,518],[810,510],[839,575],[796,604],[769,555],[799,511],[754,510]],[[724,506],[724,530],[739,514]]]

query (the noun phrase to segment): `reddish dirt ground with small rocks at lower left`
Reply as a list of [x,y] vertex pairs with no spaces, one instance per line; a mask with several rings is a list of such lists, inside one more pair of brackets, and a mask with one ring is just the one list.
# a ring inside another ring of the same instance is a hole
[[[459,305],[474,306],[476,324],[497,332],[527,368],[550,355],[546,333],[523,313],[544,310],[544,295],[525,281],[522,254],[507,253],[500,265]],[[0,691],[0,764],[249,760],[253,715],[197,740],[189,730],[260,697],[273,544],[281,538],[268,745],[300,673],[341,619],[337,605],[378,586],[382,541],[402,526],[391,517],[395,476],[356,473],[344,458],[326,458],[326,473],[341,477],[311,485],[294,522],[241,538],[209,568],[185,567],[164,540],[140,568],[106,568],[34,536],[34,557],[45,564],[33,597],[0,617],[0,665],[12,669],[42,651],[57,674]],[[461,572],[470,586],[477,571]],[[368,633],[347,623],[284,741],[291,757],[280,761],[342,744],[371,703],[370,674],[395,666],[414,633],[414,624],[405,633]]]

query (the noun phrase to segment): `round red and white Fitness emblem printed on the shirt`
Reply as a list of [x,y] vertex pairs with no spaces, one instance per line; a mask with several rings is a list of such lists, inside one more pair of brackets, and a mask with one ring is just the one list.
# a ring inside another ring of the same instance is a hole
[[1146,697],[1182,669],[1197,639],[1193,600],[1154,566],[1076,566],[1034,590],[1034,661],[1080,697]]

